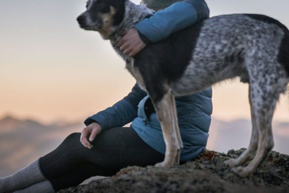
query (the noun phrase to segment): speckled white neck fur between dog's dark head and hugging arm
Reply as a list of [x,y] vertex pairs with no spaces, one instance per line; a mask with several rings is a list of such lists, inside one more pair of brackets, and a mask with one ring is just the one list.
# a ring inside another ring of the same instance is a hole
[[129,0],[125,1],[125,13],[122,22],[115,27],[113,35],[109,38],[112,43],[112,46],[116,50],[116,52],[128,63],[130,61],[130,57],[124,54],[120,48],[117,46],[117,43],[123,37],[124,33],[134,25],[144,19],[149,15],[153,15],[153,10],[147,8],[146,5],[135,5],[131,3]]

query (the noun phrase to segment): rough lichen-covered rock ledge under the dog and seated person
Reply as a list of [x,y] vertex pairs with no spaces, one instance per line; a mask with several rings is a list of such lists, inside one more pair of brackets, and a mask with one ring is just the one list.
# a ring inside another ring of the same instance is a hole
[[253,176],[240,178],[223,162],[244,150],[205,150],[193,162],[170,169],[127,167],[115,176],[59,192],[289,192],[289,155],[272,151]]

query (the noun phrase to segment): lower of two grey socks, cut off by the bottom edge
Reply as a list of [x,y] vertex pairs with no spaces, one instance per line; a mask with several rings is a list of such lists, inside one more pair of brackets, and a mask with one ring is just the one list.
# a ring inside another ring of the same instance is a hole
[[31,193],[31,192],[41,192],[41,193],[55,193],[52,185],[48,180],[33,184],[25,189],[14,191],[13,193]]

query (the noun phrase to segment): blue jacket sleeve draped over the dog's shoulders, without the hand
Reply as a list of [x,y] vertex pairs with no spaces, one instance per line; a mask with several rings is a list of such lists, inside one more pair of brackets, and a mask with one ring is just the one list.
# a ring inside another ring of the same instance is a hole
[[209,9],[204,0],[176,2],[153,16],[135,24],[141,40],[148,44],[165,39],[175,31],[182,30],[209,17]]

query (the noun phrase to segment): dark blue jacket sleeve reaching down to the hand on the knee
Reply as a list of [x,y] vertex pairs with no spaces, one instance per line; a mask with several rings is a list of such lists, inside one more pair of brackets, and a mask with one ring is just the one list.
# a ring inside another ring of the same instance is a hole
[[87,126],[92,122],[98,122],[102,129],[123,126],[131,122],[137,116],[137,105],[147,95],[137,84],[131,92],[112,107],[88,117],[84,124]]

